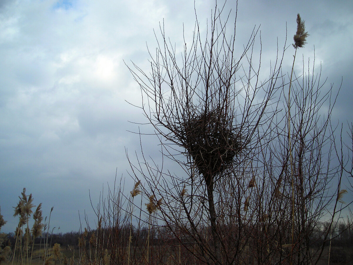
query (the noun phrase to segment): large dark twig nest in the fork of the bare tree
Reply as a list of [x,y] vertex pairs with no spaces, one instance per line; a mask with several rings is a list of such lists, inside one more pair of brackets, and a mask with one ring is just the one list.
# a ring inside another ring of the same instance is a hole
[[185,148],[205,179],[227,169],[241,149],[232,123],[216,112],[194,116],[184,122],[183,130]]

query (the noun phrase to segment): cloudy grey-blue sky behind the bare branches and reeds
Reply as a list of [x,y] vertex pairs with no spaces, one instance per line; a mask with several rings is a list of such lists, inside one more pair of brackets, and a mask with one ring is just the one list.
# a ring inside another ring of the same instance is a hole
[[[226,10],[235,4],[228,0]],[[201,30],[214,5],[195,1]],[[299,58],[313,58],[315,49],[334,92],[343,78],[333,119],[351,123],[353,1],[239,0],[237,43],[241,49],[260,26],[262,64],[269,65],[277,41],[292,42],[297,13],[310,34]],[[141,106],[141,92],[124,61],[149,71],[147,46],[156,47],[154,30],[159,36],[163,21],[180,45],[183,30],[194,30],[194,2],[0,0],[0,207],[7,221],[1,232],[16,229],[13,207],[23,188],[34,205],[42,202],[43,216],[54,207],[54,232],[78,231],[79,214],[81,222],[84,214],[93,220],[91,201],[98,204],[115,176],[133,188],[126,151],[133,156],[140,139],[131,131],[151,128],[136,124],[147,120],[133,106]],[[293,53],[288,48],[284,69]],[[155,137],[142,141],[145,154],[159,154]]]

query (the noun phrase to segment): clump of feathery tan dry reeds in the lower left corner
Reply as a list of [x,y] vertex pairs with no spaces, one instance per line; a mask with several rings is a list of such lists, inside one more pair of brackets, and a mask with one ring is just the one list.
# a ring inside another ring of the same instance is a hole
[[[0,234],[0,264],[73,264],[74,253],[62,251],[60,244],[53,242],[53,230],[49,231],[49,219],[43,223],[42,204],[35,212],[32,194],[26,195],[23,188],[19,202],[14,207],[14,216],[19,217],[18,226],[13,234]],[[33,226],[30,229],[30,218],[33,218]],[[6,222],[0,214],[0,229]],[[66,253],[66,255],[65,255]],[[69,260],[67,257],[71,257]]]

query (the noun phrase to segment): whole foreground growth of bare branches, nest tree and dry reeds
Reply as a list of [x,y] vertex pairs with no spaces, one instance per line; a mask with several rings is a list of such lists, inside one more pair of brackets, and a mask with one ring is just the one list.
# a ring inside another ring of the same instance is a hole
[[[224,6],[215,7],[205,37],[196,20],[193,41],[180,55],[161,27],[150,71],[133,63],[129,67],[141,88],[141,109],[160,139],[162,162],[145,157],[143,148],[135,162],[127,155],[136,184],[129,195],[121,183],[108,187],[95,208],[97,225],[91,227],[85,218],[77,257],[63,255],[60,245],[49,242],[50,216],[42,224],[41,205],[29,229],[32,196],[24,189],[15,208],[20,219],[15,245],[1,247],[0,260],[352,262],[351,201],[345,202],[344,195],[352,187],[353,148],[331,125],[336,94],[322,81],[315,60],[303,61],[303,72],[294,71],[297,50],[308,36],[304,21],[298,14],[291,74],[282,72],[284,53],[290,52],[284,43],[282,52],[277,47],[268,78],[260,80],[261,51],[258,58],[254,51],[258,29],[240,50],[236,21],[229,22],[236,16],[225,12]],[[165,160],[175,162],[183,176],[165,169]],[[35,245],[38,237],[43,242]]]

